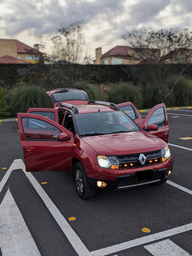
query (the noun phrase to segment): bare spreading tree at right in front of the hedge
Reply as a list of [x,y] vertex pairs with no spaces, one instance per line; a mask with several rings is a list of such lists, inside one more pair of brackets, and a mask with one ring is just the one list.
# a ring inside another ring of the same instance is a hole
[[[133,57],[138,63],[145,64],[147,79],[156,86],[159,103],[163,102],[192,63],[192,32],[189,29],[132,29],[126,30],[123,39],[133,48]],[[175,79],[169,84],[167,77],[173,73]],[[169,90],[164,90],[165,87]]]

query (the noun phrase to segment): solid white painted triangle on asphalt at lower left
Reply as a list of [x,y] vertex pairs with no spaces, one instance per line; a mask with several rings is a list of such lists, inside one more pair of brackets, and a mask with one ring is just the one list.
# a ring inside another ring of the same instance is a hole
[[9,189],[0,205],[0,227],[2,255],[41,255]]

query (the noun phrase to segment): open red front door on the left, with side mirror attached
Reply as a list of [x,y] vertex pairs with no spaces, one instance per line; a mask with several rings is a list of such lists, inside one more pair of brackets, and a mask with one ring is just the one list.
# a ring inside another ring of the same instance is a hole
[[27,172],[72,169],[71,132],[40,115],[18,113],[17,117]]

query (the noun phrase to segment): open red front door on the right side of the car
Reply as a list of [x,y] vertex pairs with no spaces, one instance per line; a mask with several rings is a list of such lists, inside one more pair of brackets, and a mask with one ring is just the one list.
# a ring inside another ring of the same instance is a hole
[[149,114],[141,124],[141,129],[147,131],[149,124],[156,124],[158,130],[148,132],[161,138],[167,143],[169,140],[169,125],[164,103],[158,104],[150,110]]

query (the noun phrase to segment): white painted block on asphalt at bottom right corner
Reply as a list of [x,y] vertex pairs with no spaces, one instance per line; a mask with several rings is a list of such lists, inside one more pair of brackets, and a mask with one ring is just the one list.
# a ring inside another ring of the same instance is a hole
[[169,239],[155,244],[146,245],[144,248],[146,248],[154,256],[190,256],[188,252],[184,251],[181,247]]

